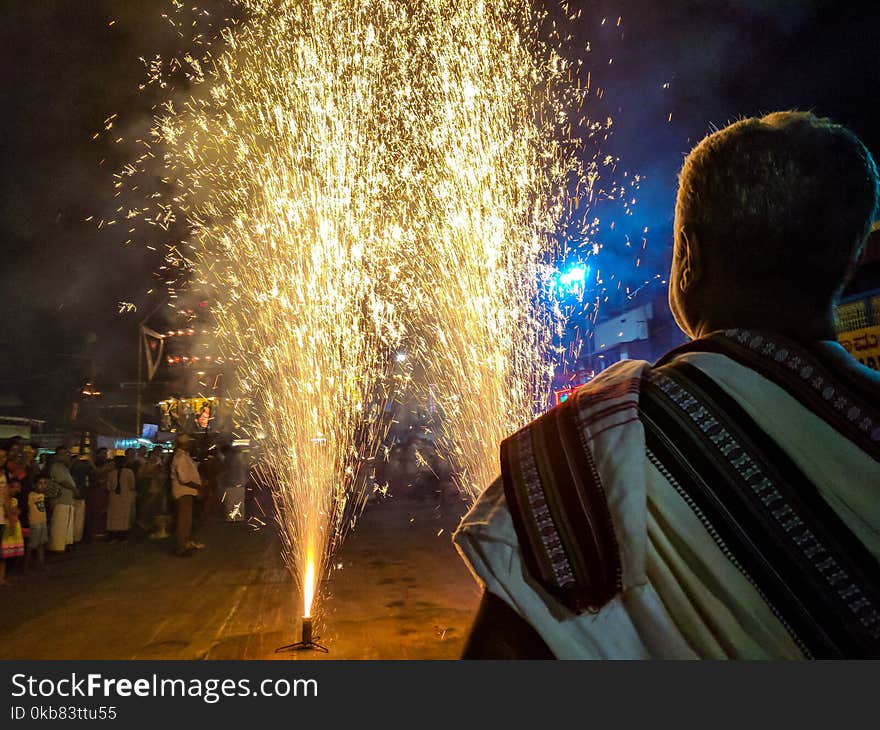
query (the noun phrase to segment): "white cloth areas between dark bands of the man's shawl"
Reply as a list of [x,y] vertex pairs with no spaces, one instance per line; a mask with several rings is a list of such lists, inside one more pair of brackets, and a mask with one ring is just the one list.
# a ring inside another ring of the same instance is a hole
[[[880,463],[755,371],[720,354],[681,358],[739,402],[880,558],[880,500],[868,488],[880,485]],[[601,382],[623,381],[646,367],[620,363]],[[522,565],[500,479],[455,536],[477,580],[561,659],[801,658],[758,591],[645,458],[641,422],[607,426],[587,440],[620,545],[623,590],[597,613],[576,615],[533,581]]]

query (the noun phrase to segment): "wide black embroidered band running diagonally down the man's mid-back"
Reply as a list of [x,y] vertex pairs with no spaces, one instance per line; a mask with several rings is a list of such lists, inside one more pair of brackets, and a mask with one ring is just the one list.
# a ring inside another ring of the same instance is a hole
[[[677,465],[677,489],[687,485],[687,501],[702,507],[697,512],[704,524],[706,515],[714,515],[709,518],[710,534],[719,545],[727,543],[729,547],[722,549],[733,551],[735,564],[805,653],[876,654],[877,561],[815,486],[781,450],[768,460],[756,446],[762,439],[747,436],[760,433],[757,426],[698,369],[684,363],[668,365],[652,371],[647,383],[642,408],[649,451],[655,457],[664,454],[661,461],[667,469],[676,470]],[[667,406],[657,400],[657,392]],[[657,419],[663,423],[658,425]],[[693,438],[696,434],[698,439]],[[765,434],[762,437],[769,441]],[[667,439],[674,440],[672,448],[664,443]],[[707,448],[714,457],[701,453]],[[725,535],[723,542],[719,532]],[[788,559],[774,561],[774,548]]]

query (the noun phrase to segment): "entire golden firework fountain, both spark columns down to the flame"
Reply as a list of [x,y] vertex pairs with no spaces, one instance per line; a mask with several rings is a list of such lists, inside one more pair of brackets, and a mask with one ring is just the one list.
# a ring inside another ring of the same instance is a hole
[[210,48],[149,63],[191,87],[158,108],[138,162],[162,149],[168,190],[139,214],[189,226],[169,270],[214,292],[311,628],[383,437],[390,352],[438,400],[467,499],[544,406],[579,92],[529,0],[233,5]]

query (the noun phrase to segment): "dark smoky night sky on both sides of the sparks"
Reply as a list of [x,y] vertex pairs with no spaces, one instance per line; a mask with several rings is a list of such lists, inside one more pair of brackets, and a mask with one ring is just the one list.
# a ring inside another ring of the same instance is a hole
[[[876,3],[572,4],[583,7],[573,32],[581,46],[590,42],[585,60],[614,118],[609,151],[646,177],[636,216],[650,228],[657,262],[669,246],[675,175],[710,125],[811,109],[849,125],[880,155]],[[4,0],[0,401],[15,394],[28,415],[50,414],[86,375],[104,390],[134,379],[140,315],[120,314],[117,302],[152,308],[158,300],[146,291],[157,262],[142,245],[123,246],[124,230],[98,231],[84,219],[115,207],[111,172],[130,149],[92,135],[113,113],[126,131],[147,118],[139,57],[173,47],[166,7]]]

